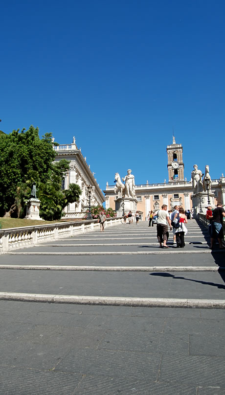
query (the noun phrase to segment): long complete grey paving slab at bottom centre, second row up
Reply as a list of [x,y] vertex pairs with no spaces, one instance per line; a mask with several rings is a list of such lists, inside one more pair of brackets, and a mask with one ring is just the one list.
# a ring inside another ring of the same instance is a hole
[[71,349],[56,371],[156,381],[160,355],[125,351]]

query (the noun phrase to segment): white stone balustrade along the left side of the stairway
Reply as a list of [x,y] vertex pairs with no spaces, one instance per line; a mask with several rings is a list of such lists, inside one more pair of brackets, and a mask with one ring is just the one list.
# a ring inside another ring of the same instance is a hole
[[[121,219],[107,218],[105,227],[116,225]],[[99,229],[97,219],[3,229],[0,230],[0,254],[96,229]]]

